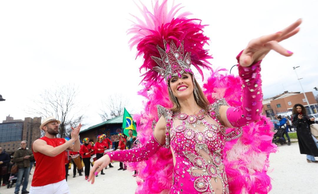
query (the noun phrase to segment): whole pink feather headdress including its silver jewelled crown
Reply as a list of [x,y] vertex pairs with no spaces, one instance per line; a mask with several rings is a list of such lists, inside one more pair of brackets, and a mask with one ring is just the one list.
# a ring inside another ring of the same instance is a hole
[[209,40],[203,34],[206,25],[202,25],[199,19],[186,18],[190,15],[189,12],[175,17],[182,8],[179,5],[173,6],[168,12],[167,0],[162,4],[157,0],[153,13],[143,5],[139,9],[145,21],[135,17],[137,22],[128,30],[128,34],[135,34],[129,41],[130,48],[137,45],[136,57],[143,55],[144,58],[140,70],[145,69],[147,72],[142,75],[142,81],[160,82],[165,78],[168,82],[171,77],[180,77],[183,72],[193,74],[191,64],[196,67],[203,80],[201,67],[211,69],[207,60],[213,57],[203,48]]

